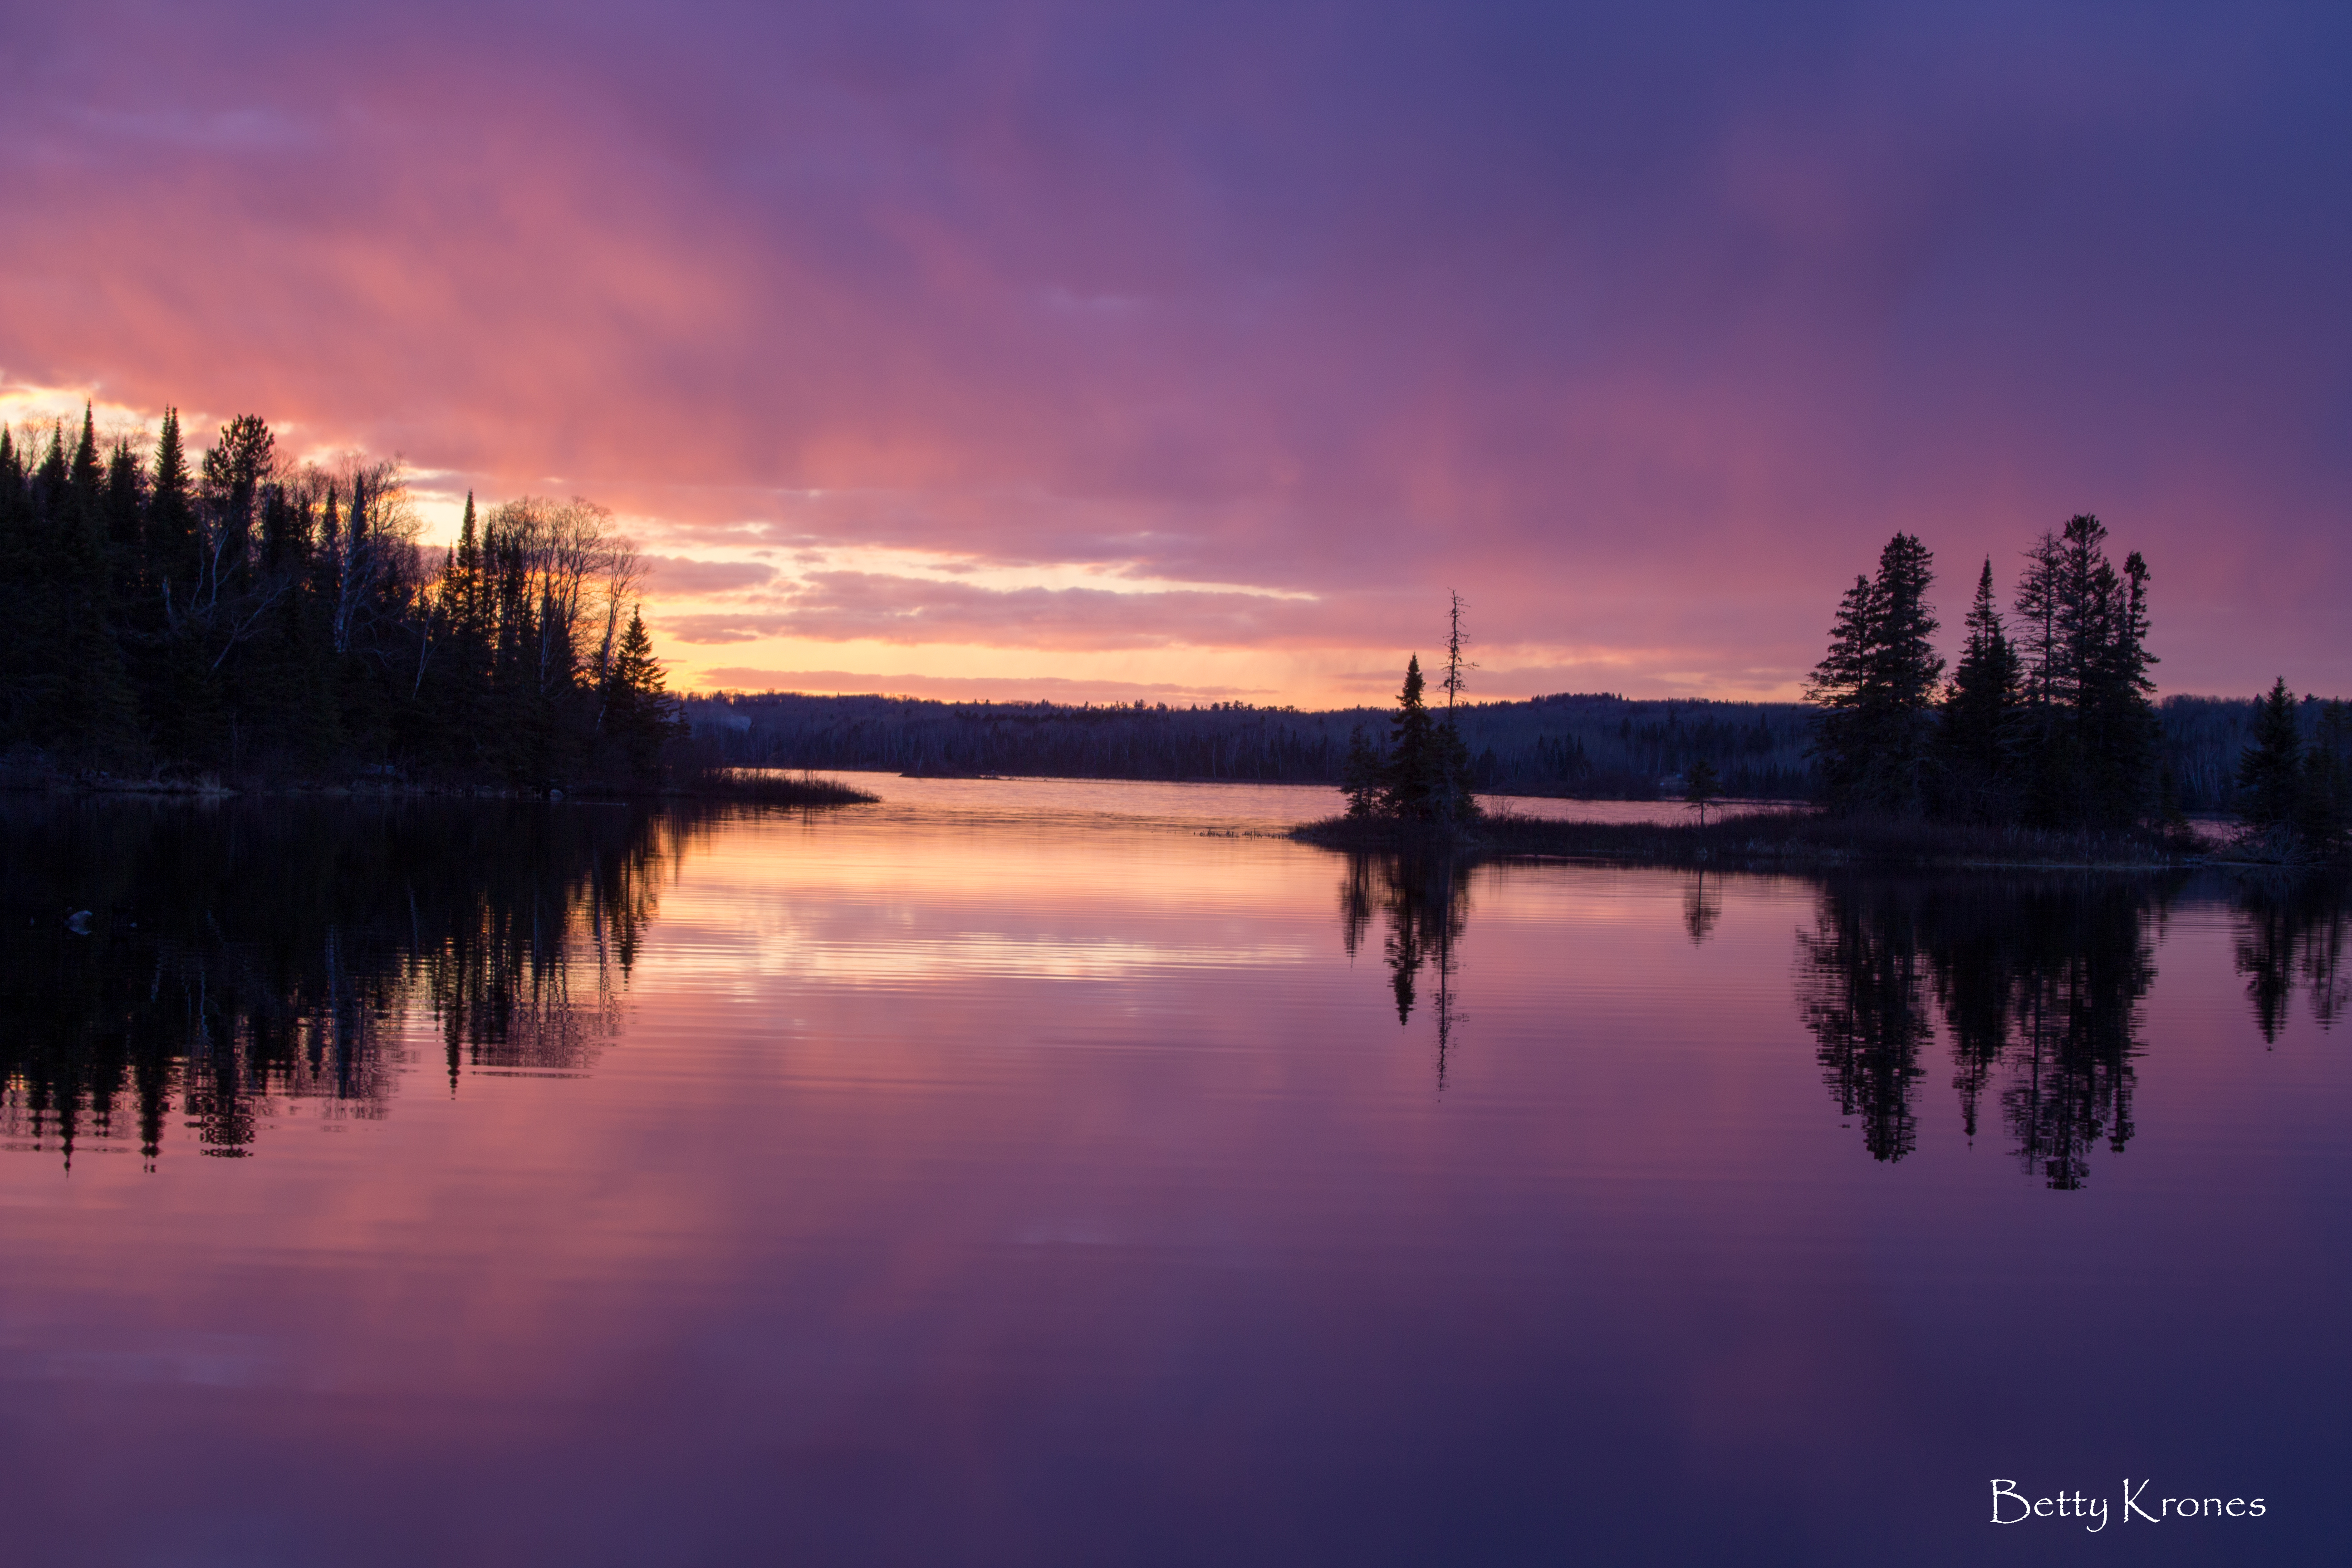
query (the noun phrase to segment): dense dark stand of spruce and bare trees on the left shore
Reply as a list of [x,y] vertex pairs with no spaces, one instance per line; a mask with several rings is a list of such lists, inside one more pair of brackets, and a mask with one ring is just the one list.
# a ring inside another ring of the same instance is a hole
[[[19,435],[24,440],[19,440]],[[191,454],[89,411],[0,428],[0,750],[167,776],[647,783],[677,733],[637,555],[588,501],[416,543],[400,463],[296,463],[252,414]]]

